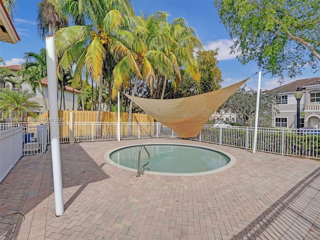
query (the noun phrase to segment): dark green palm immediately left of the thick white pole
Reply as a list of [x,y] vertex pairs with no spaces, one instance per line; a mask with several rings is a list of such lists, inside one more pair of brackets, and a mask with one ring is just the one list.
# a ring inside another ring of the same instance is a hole
[[26,60],[21,65],[18,74],[26,76],[25,81],[30,84],[33,93],[39,87],[44,108],[47,110],[45,97],[42,90],[41,80],[47,76],[46,70],[46,51],[41,48],[40,53],[25,52],[24,59]]

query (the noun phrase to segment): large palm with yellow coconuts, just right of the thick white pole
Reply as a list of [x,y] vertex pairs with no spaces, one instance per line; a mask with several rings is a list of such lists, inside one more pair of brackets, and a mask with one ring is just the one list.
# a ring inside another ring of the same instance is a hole
[[114,63],[126,58],[127,64],[123,65],[123,61],[117,64],[122,64],[124,71],[130,68],[142,78],[134,56],[127,47],[134,39],[129,31],[136,21],[133,7],[128,0],[66,0],[64,7],[73,16],[85,15],[90,25],[69,26],[56,32],[56,52],[61,57],[59,67],[68,69],[75,63],[75,79],[81,77],[83,68],[87,68],[99,85],[97,121],[100,121],[103,79],[107,78],[110,84],[111,77],[114,81],[120,77],[108,74],[112,72]]

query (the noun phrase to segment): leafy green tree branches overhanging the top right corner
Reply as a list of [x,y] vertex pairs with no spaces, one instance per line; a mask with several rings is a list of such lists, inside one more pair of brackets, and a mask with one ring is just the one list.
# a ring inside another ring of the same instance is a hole
[[283,78],[301,74],[320,62],[320,1],[214,0],[233,45],[231,52],[245,64]]

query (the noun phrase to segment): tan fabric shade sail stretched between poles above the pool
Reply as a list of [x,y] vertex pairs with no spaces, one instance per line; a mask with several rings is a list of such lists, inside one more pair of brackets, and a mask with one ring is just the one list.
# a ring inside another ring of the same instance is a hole
[[125,95],[180,137],[193,137],[199,134],[211,114],[247,79],[215,91],[182,98],[149,99]]

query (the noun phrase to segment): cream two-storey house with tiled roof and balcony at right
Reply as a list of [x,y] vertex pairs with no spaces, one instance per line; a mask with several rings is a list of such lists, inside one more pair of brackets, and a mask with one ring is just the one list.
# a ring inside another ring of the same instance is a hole
[[285,85],[266,90],[275,91],[279,113],[272,119],[272,126],[296,128],[297,100],[294,92],[300,87],[303,96],[300,99],[300,127],[320,128],[320,77],[295,80]]

